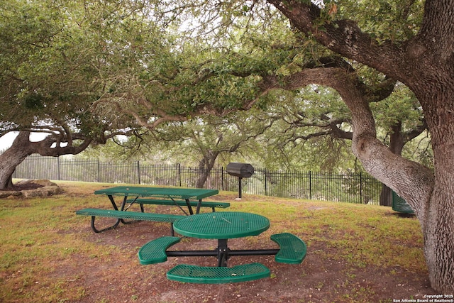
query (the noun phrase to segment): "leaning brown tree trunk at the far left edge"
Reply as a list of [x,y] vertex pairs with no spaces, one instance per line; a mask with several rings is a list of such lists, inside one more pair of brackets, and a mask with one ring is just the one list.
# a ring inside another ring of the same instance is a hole
[[19,132],[11,147],[0,155],[0,189],[13,188],[13,172],[17,165],[31,155],[31,150],[28,148],[29,137],[28,131]]

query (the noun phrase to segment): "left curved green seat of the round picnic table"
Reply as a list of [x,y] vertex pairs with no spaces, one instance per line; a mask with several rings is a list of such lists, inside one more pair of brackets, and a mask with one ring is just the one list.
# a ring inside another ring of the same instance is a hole
[[179,237],[163,236],[146,243],[138,252],[140,264],[148,265],[167,261],[165,250],[178,243]]

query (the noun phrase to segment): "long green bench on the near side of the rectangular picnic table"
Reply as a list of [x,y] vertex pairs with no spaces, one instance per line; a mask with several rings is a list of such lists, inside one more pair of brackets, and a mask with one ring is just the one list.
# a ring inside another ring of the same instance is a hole
[[[102,231],[106,231],[112,228],[116,228],[119,222],[122,221],[123,224],[127,224],[129,222],[123,221],[123,219],[133,219],[139,221],[155,221],[155,222],[170,222],[170,228],[172,236],[174,234],[173,231],[173,222],[177,221],[178,219],[184,218],[183,215],[176,215],[176,214],[154,214],[154,213],[143,213],[138,211],[116,211],[114,209],[80,209],[76,211],[76,214],[82,216],[92,216],[92,229],[95,233],[100,233]],[[96,216],[104,216],[109,218],[117,218],[118,221],[114,226],[110,226],[108,228],[104,228],[98,230],[94,226],[94,220]]]

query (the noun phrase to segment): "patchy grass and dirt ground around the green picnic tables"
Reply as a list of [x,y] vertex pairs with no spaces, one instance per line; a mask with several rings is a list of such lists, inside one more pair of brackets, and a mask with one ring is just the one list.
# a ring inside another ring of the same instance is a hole
[[[306,242],[308,253],[300,265],[276,263],[273,256],[232,257],[229,264],[260,262],[272,275],[191,285],[167,280],[165,272],[179,263],[214,266],[216,260],[181,257],[140,265],[138,249],[168,235],[168,224],[144,221],[93,233],[89,217],[74,211],[110,209],[109,199],[93,192],[114,185],[57,184],[63,193],[53,197],[0,199],[0,302],[392,302],[434,294],[418,220],[390,207],[248,194],[237,201],[238,193],[220,192],[209,200],[230,202],[225,211],[262,214],[271,222],[260,236],[229,242],[232,248],[270,248],[270,235],[291,232]],[[179,214],[172,206],[146,208]],[[206,245],[192,238],[177,244]]]

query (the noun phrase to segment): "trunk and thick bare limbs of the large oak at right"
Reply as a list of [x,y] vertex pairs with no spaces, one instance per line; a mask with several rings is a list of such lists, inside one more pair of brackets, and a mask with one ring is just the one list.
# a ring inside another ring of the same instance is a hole
[[[345,72],[319,71],[312,76],[315,82],[330,82],[326,84],[343,95],[352,113],[353,152],[367,172],[414,209],[421,222],[432,287],[454,292],[454,1],[427,0],[419,31],[406,40],[398,36],[378,40],[353,18],[336,18],[335,11],[344,9],[342,3],[321,9],[308,1],[268,2],[333,53],[399,80],[419,99],[431,133],[434,170],[395,155],[377,140],[370,107],[358,95],[356,82],[346,81]],[[411,4],[402,9],[411,11]]]

